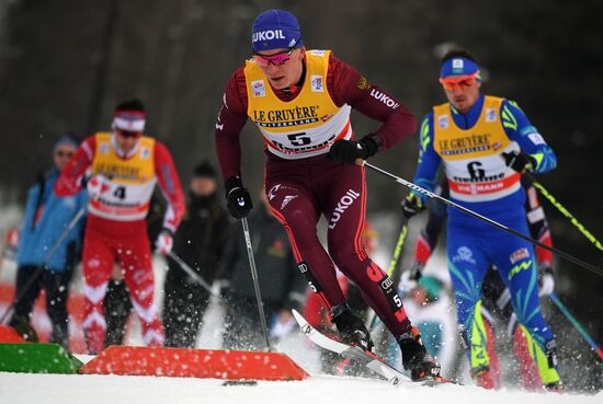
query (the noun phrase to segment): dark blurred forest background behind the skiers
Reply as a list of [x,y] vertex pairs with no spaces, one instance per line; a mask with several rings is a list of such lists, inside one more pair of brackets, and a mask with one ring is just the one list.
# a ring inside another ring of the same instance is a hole
[[[132,96],[146,103],[147,132],[168,145],[184,182],[198,161],[215,162],[214,123],[224,85],[250,55],[254,16],[270,8],[294,12],[307,47],[333,49],[419,118],[444,101],[437,82],[442,48],[451,43],[468,48],[483,67],[483,91],[517,101],[557,152],[559,166],[542,175],[542,183],[603,236],[603,1],[598,0],[0,0],[2,197],[23,200],[35,174],[50,165],[60,134],[84,137],[107,129],[115,104]],[[357,134],[374,128],[356,116]],[[262,141],[250,125],[242,138],[243,175],[259,187]],[[411,140],[373,162],[411,178],[416,159]],[[368,184],[369,210],[398,210],[406,189],[375,174],[368,174]],[[601,266],[601,252],[545,206],[556,246]],[[602,344],[603,278],[558,264],[558,293]],[[557,332],[565,327],[567,322]]]

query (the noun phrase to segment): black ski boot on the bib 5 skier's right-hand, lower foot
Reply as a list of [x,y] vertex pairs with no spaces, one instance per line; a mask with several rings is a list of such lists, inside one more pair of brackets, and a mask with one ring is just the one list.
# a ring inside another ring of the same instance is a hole
[[402,351],[402,366],[410,371],[411,380],[440,376],[440,363],[421,344],[420,335],[414,336],[412,332],[405,333],[398,338],[398,344]]

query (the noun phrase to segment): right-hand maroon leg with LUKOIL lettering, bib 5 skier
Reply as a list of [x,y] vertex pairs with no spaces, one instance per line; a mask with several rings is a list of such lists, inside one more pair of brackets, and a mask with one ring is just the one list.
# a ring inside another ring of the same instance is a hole
[[[440,366],[428,354],[417,328],[408,319],[402,300],[387,274],[366,254],[363,232],[366,221],[365,170],[339,164],[332,169],[335,182],[318,186],[321,210],[328,220],[329,253],[340,270],[361,289],[366,303],[394,334],[402,353],[402,365],[412,379],[437,374]],[[351,313],[350,310],[346,312]],[[368,332],[354,316],[333,318],[338,330],[350,330],[362,344]],[[368,339],[368,345],[372,342]]]

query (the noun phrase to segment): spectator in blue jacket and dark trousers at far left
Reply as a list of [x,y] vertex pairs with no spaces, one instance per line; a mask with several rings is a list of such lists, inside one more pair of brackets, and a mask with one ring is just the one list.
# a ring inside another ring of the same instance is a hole
[[39,174],[29,191],[16,251],[16,291],[10,321],[25,339],[36,342],[37,335],[30,320],[34,302],[44,289],[46,311],[53,323],[50,340],[65,347],[69,346],[67,298],[73,268],[81,256],[83,216],[60,245],[52,251],[78,212],[86,209],[88,197],[83,191],[72,197],[59,198],[53,188],[77,147],[72,137],[62,136],[53,149],[55,165],[49,172]]

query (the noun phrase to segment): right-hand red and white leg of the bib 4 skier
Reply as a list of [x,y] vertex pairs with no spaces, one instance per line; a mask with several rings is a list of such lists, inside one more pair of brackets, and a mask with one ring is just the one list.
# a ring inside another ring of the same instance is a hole
[[162,346],[163,326],[155,304],[155,275],[147,231],[141,222],[138,235],[122,241],[118,261],[125,270],[124,280],[129,290],[134,310],[140,318],[143,343],[147,346]]

